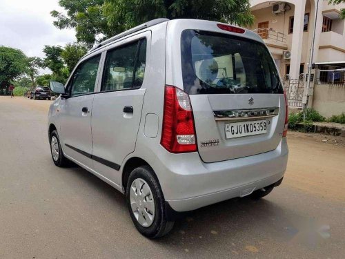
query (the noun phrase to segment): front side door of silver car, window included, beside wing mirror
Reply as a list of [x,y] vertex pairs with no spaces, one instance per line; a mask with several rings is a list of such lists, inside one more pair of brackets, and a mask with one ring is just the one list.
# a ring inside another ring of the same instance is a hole
[[63,151],[92,169],[91,111],[101,55],[81,62],[75,69],[60,111]]

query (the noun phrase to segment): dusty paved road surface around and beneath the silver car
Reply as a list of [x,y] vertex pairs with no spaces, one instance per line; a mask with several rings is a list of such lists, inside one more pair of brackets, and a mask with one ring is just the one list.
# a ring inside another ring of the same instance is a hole
[[344,146],[290,133],[268,198],[199,209],[152,241],[115,189],[54,166],[48,104],[0,97],[0,258],[345,258]]

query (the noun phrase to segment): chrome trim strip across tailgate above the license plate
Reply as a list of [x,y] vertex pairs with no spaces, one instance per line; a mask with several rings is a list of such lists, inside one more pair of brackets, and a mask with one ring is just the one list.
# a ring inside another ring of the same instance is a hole
[[265,119],[279,114],[279,107],[213,111],[216,121]]

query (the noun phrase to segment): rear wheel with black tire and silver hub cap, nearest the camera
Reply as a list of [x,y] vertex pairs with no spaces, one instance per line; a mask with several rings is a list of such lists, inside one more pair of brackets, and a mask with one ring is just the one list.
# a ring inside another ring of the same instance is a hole
[[[138,196],[137,188],[135,188],[137,182],[139,182],[139,192],[142,196]],[[126,187],[126,199],[130,218],[137,230],[146,238],[159,238],[174,227],[174,222],[166,220],[164,196],[150,166],[140,166],[130,173]],[[150,215],[153,217],[149,217]]]

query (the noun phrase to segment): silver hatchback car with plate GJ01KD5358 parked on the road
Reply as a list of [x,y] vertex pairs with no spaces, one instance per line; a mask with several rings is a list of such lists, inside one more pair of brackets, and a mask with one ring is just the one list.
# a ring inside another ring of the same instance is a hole
[[262,39],[214,21],[156,19],[101,42],[50,106],[57,166],[75,162],[126,195],[132,221],[164,236],[180,212],[283,179],[288,116]]

